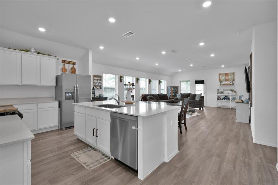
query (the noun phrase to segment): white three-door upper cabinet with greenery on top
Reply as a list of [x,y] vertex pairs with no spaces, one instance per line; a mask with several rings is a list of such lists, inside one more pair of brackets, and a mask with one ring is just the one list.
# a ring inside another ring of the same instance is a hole
[[1,85],[55,86],[56,57],[1,47]]

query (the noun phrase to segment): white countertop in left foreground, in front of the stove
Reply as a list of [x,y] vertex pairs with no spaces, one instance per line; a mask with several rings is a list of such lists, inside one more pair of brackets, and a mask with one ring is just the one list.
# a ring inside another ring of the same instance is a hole
[[24,142],[34,138],[34,134],[18,115],[0,117],[0,146]]

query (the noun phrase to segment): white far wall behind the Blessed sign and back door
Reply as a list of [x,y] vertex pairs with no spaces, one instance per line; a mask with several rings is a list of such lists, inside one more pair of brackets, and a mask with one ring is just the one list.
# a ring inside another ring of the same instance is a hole
[[[247,61],[246,61],[247,62]],[[235,72],[235,85],[231,86],[219,86],[219,73]],[[217,89],[230,88],[235,89],[237,98],[239,94],[243,94],[244,97],[248,98],[246,92],[245,79],[244,79],[244,66],[233,67],[233,68],[219,68],[209,69],[200,71],[190,72],[179,72],[172,76],[172,86],[180,86],[181,80],[190,80],[190,92],[194,93],[194,80],[206,80],[206,106],[216,107],[216,94]],[[180,89],[180,88],[179,88]]]

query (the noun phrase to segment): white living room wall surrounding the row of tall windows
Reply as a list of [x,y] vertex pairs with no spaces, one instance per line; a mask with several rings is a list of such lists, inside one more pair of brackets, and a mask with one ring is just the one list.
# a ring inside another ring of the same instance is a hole
[[[136,67],[134,67],[136,69]],[[92,64],[92,75],[102,75],[103,73],[108,74],[115,74],[118,75],[118,95],[121,97],[121,100],[124,99],[124,83],[120,83],[120,75],[122,76],[133,76],[135,77],[135,91],[134,91],[134,98],[135,100],[139,100],[140,94],[139,94],[139,83],[136,84],[136,77],[138,78],[150,78],[155,80],[167,80],[167,86],[171,85],[171,77],[170,76],[163,76],[163,75],[157,75],[147,72],[141,72],[136,70],[130,70],[130,69],[123,69],[123,68],[117,68],[102,64]],[[161,86],[158,85],[158,92],[160,92]],[[102,89],[96,89],[96,96],[98,94],[102,93]],[[151,84],[148,84],[148,92],[151,92]]]

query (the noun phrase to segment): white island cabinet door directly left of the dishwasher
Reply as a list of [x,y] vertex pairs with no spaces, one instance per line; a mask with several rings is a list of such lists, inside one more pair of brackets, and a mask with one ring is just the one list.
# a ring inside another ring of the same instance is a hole
[[110,121],[97,119],[96,146],[110,154]]

